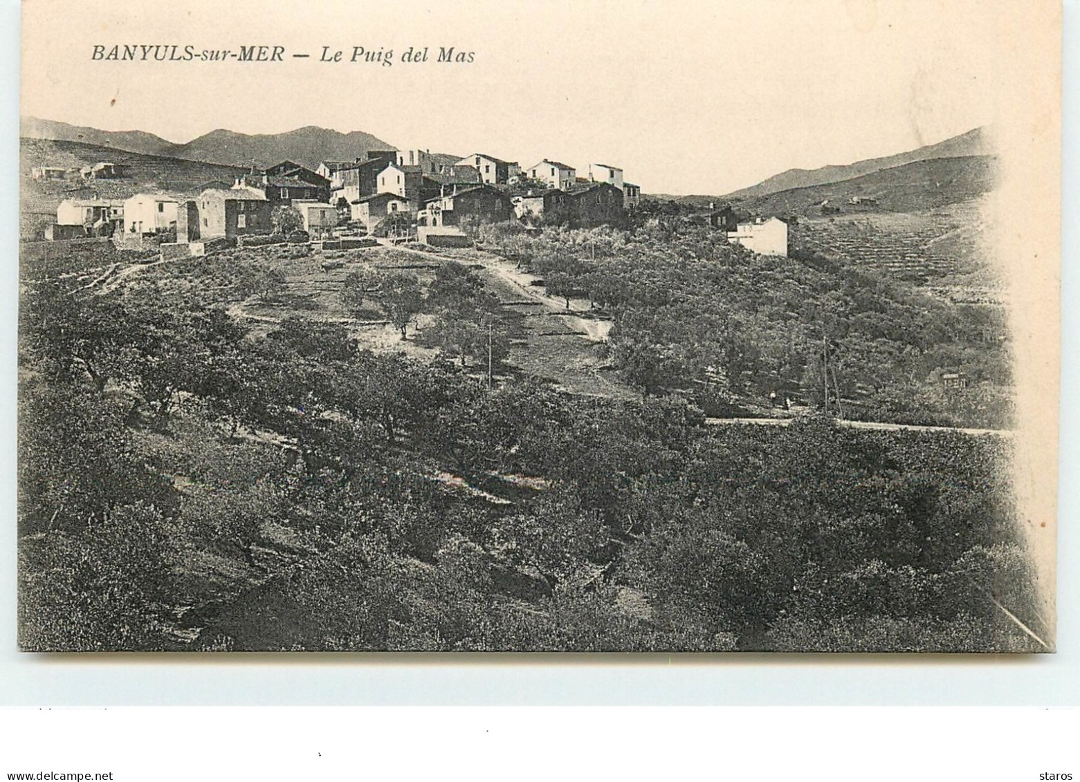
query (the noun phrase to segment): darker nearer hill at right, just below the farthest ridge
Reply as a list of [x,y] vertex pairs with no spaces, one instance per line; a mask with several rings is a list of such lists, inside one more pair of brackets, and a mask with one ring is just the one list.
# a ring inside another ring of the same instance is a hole
[[997,157],[993,155],[936,157],[744,198],[740,205],[759,215],[819,216],[822,204],[840,212],[914,212],[976,198],[994,189],[996,176]]

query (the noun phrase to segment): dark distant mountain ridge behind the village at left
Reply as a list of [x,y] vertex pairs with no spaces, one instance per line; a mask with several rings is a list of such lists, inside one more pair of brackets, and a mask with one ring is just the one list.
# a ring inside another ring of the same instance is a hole
[[19,135],[23,138],[76,141],[139,154],[247,168],[252,165],[267,167],[284,160],[315,168],[324,160],[351,161],[365,156],[368,150],[396,149],[363,131],[338,133],[313,125],[268,135],[218,129],[187,143],[174,143],[143,131],[99,131],[24,116],[19,120]]

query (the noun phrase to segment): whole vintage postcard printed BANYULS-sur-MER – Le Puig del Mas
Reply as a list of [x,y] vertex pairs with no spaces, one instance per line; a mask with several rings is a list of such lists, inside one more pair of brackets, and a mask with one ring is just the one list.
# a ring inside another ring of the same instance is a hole
[[24,650],[1054,650],[1058,3],[23,9]]

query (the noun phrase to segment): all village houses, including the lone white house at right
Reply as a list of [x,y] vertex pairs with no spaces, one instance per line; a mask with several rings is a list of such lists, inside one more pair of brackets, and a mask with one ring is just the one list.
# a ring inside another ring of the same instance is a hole
[[[581,176],[584,174],[584,176]],[[522,167],[517,162],[476,152],[465,157],[430,150],[368,150],[352,161],[323,161],[312,170],[292,161],[264,169],[254,166],[232,181],[205,182],[198,193],[136,192],[100,197],[104,183],[125,178],[125,166],[98,161],[78,168],[50,163],[33,166],[40,183],[70,182],[91,197],[64,198],[54,222],[35,238],[51,242],[110,238],[118,246],[151,243],[175,257],[201,255],[206,243],[243,242],[243,237],[302,231],[314,242],[370,235],[389,243],[418,241],[430,246],[471,244],[467,225],[519,221],[529,228],[621,227],[637,209],[642,189],[626,181],[623,169],[590,164],[584,172],[543,159]],[[283,218],[295,210],[298,222]],[[730,242],[760,255],[787,255],[787,225],[774,216],[738,221],[730,207],[711,204],[704,221],[726,231]]]

